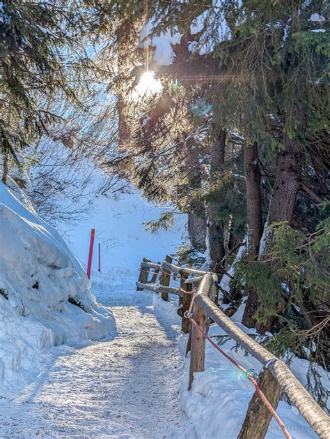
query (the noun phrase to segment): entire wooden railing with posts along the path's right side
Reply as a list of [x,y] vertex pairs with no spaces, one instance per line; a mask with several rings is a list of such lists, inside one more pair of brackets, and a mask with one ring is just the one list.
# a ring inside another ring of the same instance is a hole
[[[311,425],[313,431],[322,439],[330,438],[330,420],[327,414],[320,408],[313,397],[306,391],[288,366],[275,357],[260,343],[239,329],[230,318],[218,308],[217,275],[203,270],[191,269],[173,265],[169,256],[164,262],[153,263],[143,258],[140,264],[139,281],[136,283],[137,290],[150,290],[160,292],[164,300],[168,300],[168,294],[177,295],[180,301],[178,314],[182,317],[182,331],[189,332],[188,349],[191,350],[189,389],[194,379],[195,372],[204,371],[205,368],[205,338],[198,332],[194,325],[184,316],[191,302],[192,288],[197,288],[193,315],[194,321],[207,332],[210,322],[214,322],[223,329],[230,338],[249,352],[264,366],[258,379],[258,385],[262,389],[274,409],[277,408],[281,393],[285,392],[288,399],[293,403],[301,415]],[[151,281],[148,281],[152,274]],[[170,276],[180,278],[180,287],[170,287]],[[189,276],[194,276],[189,278]],[[159,282],[157,283],[157,278]],[[262,403],[258,393],[255,392],[249,403],[246,417],[239,433],[239,439],[264,438],[267,433],[269,422],[272,419],[268,409]]]

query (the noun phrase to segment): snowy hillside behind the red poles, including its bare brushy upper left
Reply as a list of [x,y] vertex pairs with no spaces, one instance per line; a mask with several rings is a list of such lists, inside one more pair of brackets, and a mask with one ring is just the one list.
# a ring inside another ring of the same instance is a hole
[[[170,231],[160,230],[156,235],[146,232],[144,223],[157,220],[173,207],[144,200],[141,191],[129,186],[127,181],[108,177],[91,158],[79,155],[79,151],[68,152],[61,142],[46,143],[40,148],[41,161],[31,170],[33,188],[36,184],[40,188],[45,185],[43,175],[47,172],[56,174],[59,181],[72,182],[63,193],[56,191],[51,194],[51,211],[53,215],[57,209],[66,213],[79,204],[81,212],[74,218],[57,219],[56,229],[85,268],[91,229],[95,229],[92,291],[135,290],[142,258],[146,256],[152,261],[161,261],[168,252],[175,252],[175,247],[187,235],[187,216],[176,216]],[[72,200],[68,200],[68,192],[72,193]],[[99,243],[102,275],[97,271]]]

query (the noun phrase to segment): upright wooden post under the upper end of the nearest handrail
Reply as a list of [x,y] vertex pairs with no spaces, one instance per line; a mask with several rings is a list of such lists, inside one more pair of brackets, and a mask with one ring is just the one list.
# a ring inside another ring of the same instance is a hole
[[[194,320],[203,331],[206,328],[206,313],[196,302],[194,303]],[[191,324],[191,353],[190,353],[190,370],[189,370],[189,387],[194,380],[195,372],[203,372],[205,365],[205,338],[201,332]]]

